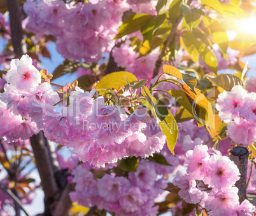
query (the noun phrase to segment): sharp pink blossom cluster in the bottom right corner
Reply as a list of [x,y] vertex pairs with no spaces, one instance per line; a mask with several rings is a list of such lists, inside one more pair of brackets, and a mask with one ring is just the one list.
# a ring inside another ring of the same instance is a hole
[[178,194],[187,203],[206,209],[208,215],[253,215],[255,206],[248,200],[239,204],[238,188],[233,187],[239,180],[238,167],[227,156],[196,145],[186,154],[184,165],[187,171],[178,170],[173,180]]

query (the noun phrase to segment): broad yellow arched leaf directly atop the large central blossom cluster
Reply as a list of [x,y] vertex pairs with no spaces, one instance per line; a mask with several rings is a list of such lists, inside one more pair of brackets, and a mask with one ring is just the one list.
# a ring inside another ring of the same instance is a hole
[[118,90],[120,87],[125,86],[127,81],[131,83],[133,81],[137,81],[137,78],[130,72],[113,72],[107,76],[104,76],[104,78],[102,78],[101,81],[97,83],[95,88],[97,91],[99,91],[99,95],[104,95],[107,89],[111,90],[114,88],[115,90]]

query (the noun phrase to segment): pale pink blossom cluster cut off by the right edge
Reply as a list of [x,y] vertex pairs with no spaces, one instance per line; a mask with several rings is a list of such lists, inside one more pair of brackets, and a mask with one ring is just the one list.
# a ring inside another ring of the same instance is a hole
[[242,86],[218,95],[216,109],[227,123],[227,134],[237,144],[256,142],[256,93],[248,93]]

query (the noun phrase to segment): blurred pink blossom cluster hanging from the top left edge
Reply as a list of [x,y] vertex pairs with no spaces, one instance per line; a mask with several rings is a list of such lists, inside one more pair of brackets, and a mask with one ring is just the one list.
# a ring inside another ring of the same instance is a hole
[[99,62],[110,52],[124,11],[155,13],[157,1],[90,0],[65,4],[62,0],[28,0],[24,11],[29,15],[27,31],[37,36],[57,38],[57,51],[64,58]]

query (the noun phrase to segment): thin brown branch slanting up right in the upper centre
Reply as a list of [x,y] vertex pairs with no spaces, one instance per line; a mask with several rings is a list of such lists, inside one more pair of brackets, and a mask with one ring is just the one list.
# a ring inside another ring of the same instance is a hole
[[[192,3],[192,0],[188,0],[187,5],[190,5],[191,3]],[[162,58],[164,57],[166,48],[169,46],[169,44],[175,37],[176,29],[177,29],[178,25],[180,24],[180,21],[182,20],[182,18],[183,18],[183,15],[180,14],[180,16],[177,18],[176,22],[174,22],[169,36],[167,36],[166,41],[164,41],[164,46],[162,47],[162,51],[157,59],[157,62],[155,62],[155,69],[153,69],[153,78],[155,78],[155,76],[157,76],[159,74],[160,67],[162,66]]]

